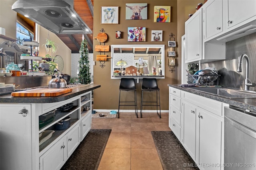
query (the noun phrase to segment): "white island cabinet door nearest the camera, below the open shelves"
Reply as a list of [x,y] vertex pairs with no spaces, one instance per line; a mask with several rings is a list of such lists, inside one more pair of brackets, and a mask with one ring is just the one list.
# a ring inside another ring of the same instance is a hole
[[59,170],[66,161],[65,140],[62,138],[40,157],[41,170]]

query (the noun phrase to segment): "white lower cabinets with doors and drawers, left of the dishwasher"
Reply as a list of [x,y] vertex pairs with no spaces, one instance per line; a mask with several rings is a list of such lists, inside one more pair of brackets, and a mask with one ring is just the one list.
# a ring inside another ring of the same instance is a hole
[[169,127],[198,168],[223,170],[224,106],[228,104],[182,91],[181,119],[180,124],[176,125],[177,109],[171,100],[175,96],[170,91],[169,95]]

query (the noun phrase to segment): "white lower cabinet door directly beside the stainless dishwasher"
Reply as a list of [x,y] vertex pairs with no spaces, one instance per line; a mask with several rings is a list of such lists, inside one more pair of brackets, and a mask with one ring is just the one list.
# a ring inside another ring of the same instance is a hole
[[[199,120],[199,147],[196,154],[199,164],[222,164],[222,133],[224,118],[204,109],[197,109]],[[204,169],[220,170],[220,166],[204,167]]]

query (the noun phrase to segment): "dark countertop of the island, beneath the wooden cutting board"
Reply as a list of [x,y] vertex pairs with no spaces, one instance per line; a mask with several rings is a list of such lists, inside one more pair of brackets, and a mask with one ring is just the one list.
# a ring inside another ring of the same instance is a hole
[[0,103],[54,103],[62,102],[80,94],[100,88],[98,84],[82,85],[72,88],[72,92],[56,97],[12,97],[11,94],[0,96]]

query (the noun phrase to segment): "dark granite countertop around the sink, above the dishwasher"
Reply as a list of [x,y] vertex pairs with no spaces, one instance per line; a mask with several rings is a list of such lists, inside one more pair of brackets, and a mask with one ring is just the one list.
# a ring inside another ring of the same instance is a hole
[[[179,84],[168,84],[168,86],[173,87],[173,88],[177,88],[186,92],[190,92],[193,94],[197,94],[199,96],[203,96],[206,98],[210,98],[213,100],[217,100],[232,106],[236,106],[236,107],[240,107],[242,109],[248,109],[250,111],[254,111],[256,112],[256,98],[234,98],[234,99],[230,99],[230,98],[225,98],[225,97],[221,97],[218,95],[214,95],[214,94],[208,94],[202,91],[198,91],[198,90],[193,90],[191,88],[184,88],[184,87],[180,87]],[[210,87],[209,87],[210,88]]]

